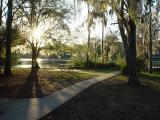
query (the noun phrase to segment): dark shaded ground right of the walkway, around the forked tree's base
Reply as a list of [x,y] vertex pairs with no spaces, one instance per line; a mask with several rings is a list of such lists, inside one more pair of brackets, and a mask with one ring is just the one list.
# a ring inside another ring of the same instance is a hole
[[128,86],[127,79],[95,84],[40,120],[160,120],[160,90],[148,79],[141,78],[140,87]]

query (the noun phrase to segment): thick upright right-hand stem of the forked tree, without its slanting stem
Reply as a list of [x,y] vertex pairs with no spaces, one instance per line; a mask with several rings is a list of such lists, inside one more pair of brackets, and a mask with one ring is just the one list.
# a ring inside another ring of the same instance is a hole
[[139,85],[138,75],[137,75],[137,52],[136,52],[136,25],[135,22],[129,20],[130,31],[128,33],[129,42],[129,80],[130,85]]

